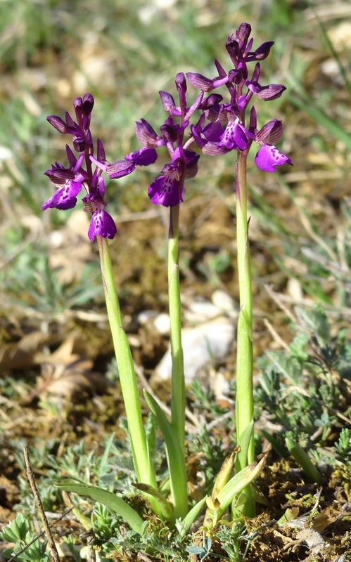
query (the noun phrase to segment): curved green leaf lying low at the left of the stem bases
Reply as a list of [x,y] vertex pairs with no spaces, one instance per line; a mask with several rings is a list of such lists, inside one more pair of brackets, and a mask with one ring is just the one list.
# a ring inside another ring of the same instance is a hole
[[96,502],[106,505],[110,511],[113,511],[113,513],[116,513],[125,519],[132,530],[139,532],[139,535],[141,535],[141,528],[143,525],[141,516],[139,516],[139,514],[137,514],[136,511],[134,511],[134,509],[130,507],[130,505],[128,505],[121,497],[118,497],[107,490],[101,490],[101,488],[98,488],[97,486],[90,486],[87,484],[63,483],[56,484],[56,487],[65,490],[66,492],[75,492],[75,494],[79,494],[81,496],[91,497],[91,499],[94,499]]

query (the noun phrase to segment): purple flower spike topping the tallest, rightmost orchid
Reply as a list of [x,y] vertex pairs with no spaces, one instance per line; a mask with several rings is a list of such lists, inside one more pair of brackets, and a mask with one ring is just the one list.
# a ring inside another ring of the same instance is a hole
[[[250,124],[246,129],[245,112],[253,96],[264,101],[275,100],[281,96],[286,87],[283,84],[262,86],[259,83],[261,68],[257,61],[267,58],[274,41],[263,43],[253,51],[253,39],[249,40],[250,32],[250,25],[242,23],[236,30],[235,37],[231,34],[226,41],[226,50],[234,64],[234,69],[226,72],[215,60],[218,76],[213,79],[192,72],[186,74],[191,84],[203,92],[211,92],[225,85],[230,93],[230,103],[221,104],[221,100],[217,100],[210,108],[206,108],[198,124],[191,126],[191,133],[203,153],[212,156],[230,150],[239,150],[247,155],[251,144],[255,141],[261,146],[255,157],[255,164],[259,169],[272,173],[276,171],[276,166],[285,163],[293,164],[291,159],[283,155],[273,144],[279,141],[283,126],[280,121],[273,119],[257,131],[256,112],[253,106],[250,110]],[[248,63],[251,62],[255,62],[255,68],[251,79],[248,79]],[[210,123],[205,124],[205,119]]]

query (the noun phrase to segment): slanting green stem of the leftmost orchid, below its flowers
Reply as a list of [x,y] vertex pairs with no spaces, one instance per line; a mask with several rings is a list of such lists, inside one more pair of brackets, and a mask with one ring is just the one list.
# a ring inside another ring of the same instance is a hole
[[[106,298],[108,322],[110,323],[117,367],[120,374],[122,395],[127,414],[134,468],[139,482],[148,484],[157,490],[155,471],[149,455],[148,442],[143,428],[139,388],[136,383],[132,353],[125,330],[122,328],[122,315],[113,277],[108,242],[106,238],[101,236],[97,236],[96,238],[98,242],[98,253],[100,254],[101,275]],[[155,498],[148,495],[148,500],[155,513],[160,515],[160,508]]]

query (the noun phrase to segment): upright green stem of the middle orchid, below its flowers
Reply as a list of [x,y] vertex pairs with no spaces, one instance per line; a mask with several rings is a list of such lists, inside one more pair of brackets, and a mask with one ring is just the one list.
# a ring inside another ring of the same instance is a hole
[[168,296],[170,300],[170,341],[172,355],[172,427],[184,454],[185,381],[181,346],[181,302],[179,285],[179,204],[170,209],[168,237]]

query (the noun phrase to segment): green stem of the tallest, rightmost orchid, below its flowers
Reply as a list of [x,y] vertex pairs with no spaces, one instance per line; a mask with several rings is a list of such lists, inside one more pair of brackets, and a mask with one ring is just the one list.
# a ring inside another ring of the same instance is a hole
[[[251,287],[250,246],[248,240],[248,201],[246,155],[238,150],[236,167],[236,242],[240,313],[236,355],[236,432],[240,438],[253,419],[253,294]],[[255,458],[253,437],[248,447],[247,463]],[[239,463],[240,464],[240,463]],[[244,466],[236,464],[236,470]]]

